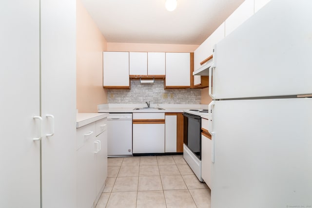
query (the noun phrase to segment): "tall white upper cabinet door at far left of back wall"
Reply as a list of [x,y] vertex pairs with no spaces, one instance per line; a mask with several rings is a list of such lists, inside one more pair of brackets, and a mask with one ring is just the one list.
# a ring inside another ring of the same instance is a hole
[[129,89],[129,52],[103,52],[103,86]]

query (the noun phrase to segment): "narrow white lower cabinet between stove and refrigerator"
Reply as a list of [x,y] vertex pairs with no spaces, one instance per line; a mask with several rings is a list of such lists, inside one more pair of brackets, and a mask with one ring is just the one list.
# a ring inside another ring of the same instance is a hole
[[[201,127],[202,127],[202,133],[201,133],[201,177],[209,186],[211,187],[211,155],[212,155],[212,140],[211,135],[208,132],[208,120],[202,118],[201,119]],[[206,125],[207,124],[207,125]]]

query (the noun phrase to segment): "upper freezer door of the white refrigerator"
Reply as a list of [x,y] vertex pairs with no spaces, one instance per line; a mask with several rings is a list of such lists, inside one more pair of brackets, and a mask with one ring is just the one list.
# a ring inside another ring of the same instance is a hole
[[272,0],[217,43],[212,97],[312,94],[311,8],[309,0]]

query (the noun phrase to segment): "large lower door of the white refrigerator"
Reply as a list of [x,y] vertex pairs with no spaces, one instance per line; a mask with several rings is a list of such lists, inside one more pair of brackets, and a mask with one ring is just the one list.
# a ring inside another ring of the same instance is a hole
[[312,98],[215,101],[212,119],[212,208],[312,206]]

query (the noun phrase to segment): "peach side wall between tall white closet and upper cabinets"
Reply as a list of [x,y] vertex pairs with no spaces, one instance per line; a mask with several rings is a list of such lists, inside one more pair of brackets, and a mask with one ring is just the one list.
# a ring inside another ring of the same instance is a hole
[[77,109],[97,113],[98,104],[107,103],[103,89],[103,51],[107,42],[97,25],[77,0]]

